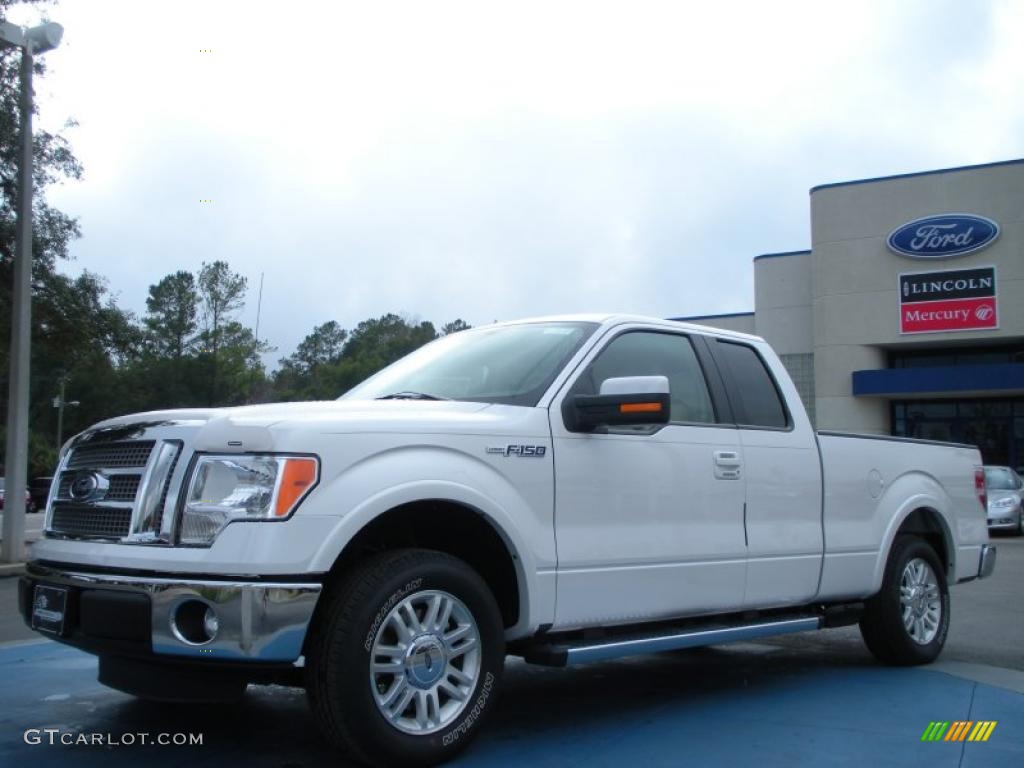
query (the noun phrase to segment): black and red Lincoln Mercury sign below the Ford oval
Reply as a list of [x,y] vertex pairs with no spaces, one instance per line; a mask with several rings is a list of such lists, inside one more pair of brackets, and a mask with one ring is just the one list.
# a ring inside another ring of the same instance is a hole
[[998,328],[995,267],[899,275],[902,334]]

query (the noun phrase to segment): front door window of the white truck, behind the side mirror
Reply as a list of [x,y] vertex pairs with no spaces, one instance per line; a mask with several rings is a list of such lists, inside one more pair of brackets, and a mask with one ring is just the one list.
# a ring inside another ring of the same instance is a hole
[[621,376],[665,376],[674,422],[714,424],[703,371],[685,336],[632,331],[613,339],[577,380],[572,394],[597,394],[601,382]]

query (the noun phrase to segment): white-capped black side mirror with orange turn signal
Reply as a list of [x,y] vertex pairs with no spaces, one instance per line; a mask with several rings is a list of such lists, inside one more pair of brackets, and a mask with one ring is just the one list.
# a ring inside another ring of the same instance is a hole
[[669,423],[669,380],[665,376],[624,376],[601,382],[600,394],[575,394],[562,403],[570,432],[597,427]]

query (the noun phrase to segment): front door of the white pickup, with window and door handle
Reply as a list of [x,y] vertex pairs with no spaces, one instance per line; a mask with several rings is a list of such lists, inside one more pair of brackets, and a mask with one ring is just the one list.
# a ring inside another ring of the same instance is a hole
[[[633,624],[742,605],[744,473],[720,424],[699,338],[625,330],[599,344],[551,408],[558,599],[554,629]],[[707,358],[706,358],[707,359]],[[666,376],[671,422],[575,433],[561,403],[605,379]]]

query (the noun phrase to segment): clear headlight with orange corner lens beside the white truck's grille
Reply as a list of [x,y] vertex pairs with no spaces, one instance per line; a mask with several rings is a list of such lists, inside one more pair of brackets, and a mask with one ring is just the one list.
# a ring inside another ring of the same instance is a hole
[[181,543],[209,545],[233,520],[288,517],[319,475],[306,456],[201,456],[181,516]]

